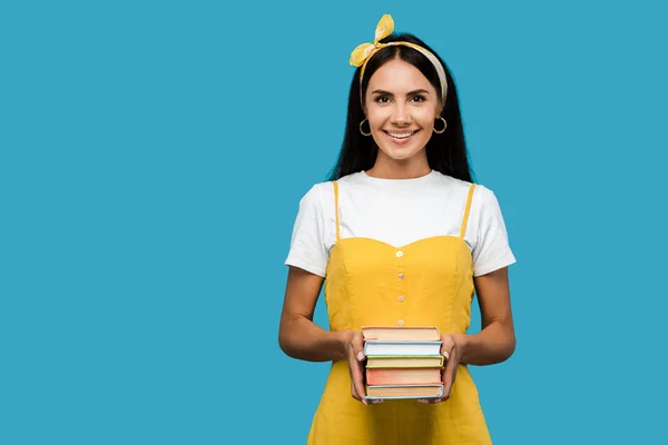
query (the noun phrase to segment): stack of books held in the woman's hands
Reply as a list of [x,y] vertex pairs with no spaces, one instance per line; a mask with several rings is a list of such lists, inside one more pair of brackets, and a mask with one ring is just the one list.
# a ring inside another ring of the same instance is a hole
[[441,334],[435,326],[365,326],[367,399],[443,395]]

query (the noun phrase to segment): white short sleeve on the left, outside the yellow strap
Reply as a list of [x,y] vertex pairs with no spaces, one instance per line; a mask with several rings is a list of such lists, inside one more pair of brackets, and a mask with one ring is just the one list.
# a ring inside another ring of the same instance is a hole
[[315,185],[299,200],[285,264],[324,277],[328,261],[324,240],[322,197],[320,187]]

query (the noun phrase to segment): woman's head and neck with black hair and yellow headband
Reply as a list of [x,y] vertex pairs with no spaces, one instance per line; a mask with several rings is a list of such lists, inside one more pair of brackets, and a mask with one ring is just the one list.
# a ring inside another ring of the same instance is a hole
[[[379,29],[393,29],[391,20],[385,16]],[[360,68],[353,76],[344,142],[331,179],[358,171],[399,179],[436,170],[471,181],[454,80],[429,46],[412,34],[387,33],[373,47],[357,47],[351,63]],[[411,144],[403,146],[405,150],[393,149],[402,141],[390,138],[390,130],[401,137],[410,129],[419,130],[420,138],[406,141]],[[391,159],[393,174],[384,169]]]

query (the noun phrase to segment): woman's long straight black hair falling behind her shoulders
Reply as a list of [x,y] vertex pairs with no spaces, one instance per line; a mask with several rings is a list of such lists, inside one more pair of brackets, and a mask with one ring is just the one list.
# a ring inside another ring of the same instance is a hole
[[[445,78],[448,80],[448,96],[441,116],[448,122],[448,128],[441,135],[435,132],[432,134],[426,144],[426,159],[432,169],[440,171],[443,175],[471,182],[472,171],[469,166],[469,156],[466,144],[464,141],[456,87],[450,69],[439,55],[422,40],[412,34],[391,34],[383,39],[382,42],[387,43],[391,41],[416,43],[431,51],[443,65]],[[369,79],[371,79],[379,68],[393,59],[401,59],[418,68],[434,86],[439,97],[442,96],[439,75],[436,73],[434,66],[420,51],[406,46],[392,46],[376,52],[366,65],[364,79],[362,79],[362,89],[360,89],[361,68],[357,68],[353,75],[343,147],[341,148],[338,160],[330,175],[330,180],[336,180],[357,171],[369,170],[375,164],[379,148],[372,137],[362,136],[360,132],[360,122],[365,118],[362,108],[362,98],[366,95]],[[360,97],[360,95],[362,95],[362,97]]]

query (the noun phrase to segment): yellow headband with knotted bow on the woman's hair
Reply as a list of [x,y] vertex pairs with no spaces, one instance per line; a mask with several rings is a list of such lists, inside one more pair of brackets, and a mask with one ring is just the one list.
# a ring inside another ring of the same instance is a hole
[[[369,59],[371,59],[373,55],[375,55],[385,47],[404,46],[420,51],[432,62],[432,65],[436,69],[436,72],[439,73],[439,80],[441,81],[441,93],[443,95],[443,102],[445,102],[445,97],[448,96],[448,81],[445,80],[445,69],[443,68],[443,65],[431,51],[428,51],[419,44],[406,41],[380,43],[381,40],[390,36],[392,32],[394,32],[394,20],[392,20],[392,16],[384,14],[383,17],[381,17],[381,20],[376,26],[376,32],[373,43],[362,43],[357,48],[355,48],[351,53],[351,65],[353,67],[362,67],[362,69],[360,70],[360,96],[362,96],[362,79],[364,78],[364,70],[366,69],[366,62],[369,61]],[[364,102],[363,99],[362,102]]]

